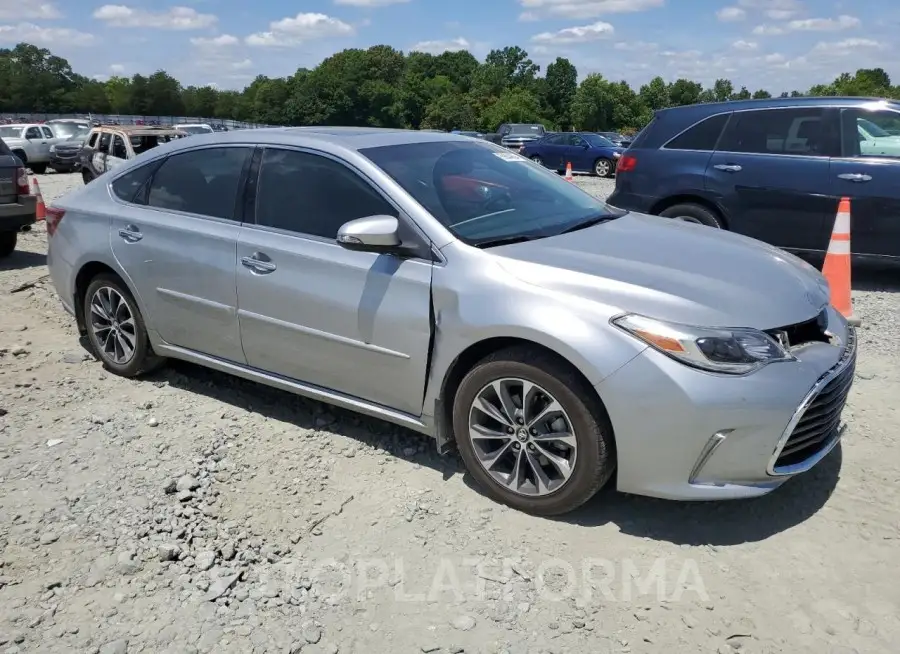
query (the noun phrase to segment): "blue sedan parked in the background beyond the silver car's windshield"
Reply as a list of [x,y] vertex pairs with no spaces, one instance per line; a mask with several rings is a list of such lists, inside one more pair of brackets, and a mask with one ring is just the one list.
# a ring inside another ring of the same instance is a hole
[[625,148],[609,139],[591,132],[557,132],[539,141],[528,143],[519,154],[557,172],[572,164],[572,171],[593,173],[600,177],[612,177],[616,162]]

